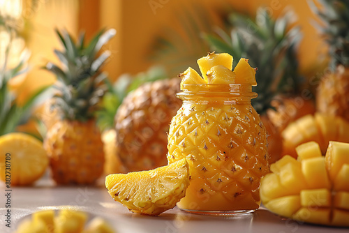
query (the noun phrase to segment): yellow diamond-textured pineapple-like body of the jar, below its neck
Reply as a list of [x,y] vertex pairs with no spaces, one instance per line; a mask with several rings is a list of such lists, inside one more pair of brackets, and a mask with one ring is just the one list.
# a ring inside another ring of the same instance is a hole
[[251,105],[184,102],[168,133],[168,163],[181,158],[188,161],[191,185],[179,208],[258,209],[269,155],[265,126]]

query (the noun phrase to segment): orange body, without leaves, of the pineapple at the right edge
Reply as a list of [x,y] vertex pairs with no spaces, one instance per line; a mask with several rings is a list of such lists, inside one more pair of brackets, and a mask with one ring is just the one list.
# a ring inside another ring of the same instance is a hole
[[319,83],[316,93],[318,112],[339,116],[349,121],[349,68],[337,66]]

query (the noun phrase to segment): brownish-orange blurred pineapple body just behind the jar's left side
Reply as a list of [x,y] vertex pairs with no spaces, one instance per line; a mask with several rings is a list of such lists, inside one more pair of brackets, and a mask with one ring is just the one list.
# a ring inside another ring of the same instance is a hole
[[117,155],[129,172],[166,165],[169,124],[181,106],[179,78],[143,84],[126,96],[115,116]]

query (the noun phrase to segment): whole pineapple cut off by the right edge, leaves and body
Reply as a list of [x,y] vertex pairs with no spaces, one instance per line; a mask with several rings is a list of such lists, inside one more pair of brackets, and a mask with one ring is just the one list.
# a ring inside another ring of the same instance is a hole
[[349,2],[344,0],[319,1],[323,8],[311,7],[324,27],[322,36],[329,45],[329,73],[322,77],[316,96],[319,112],[343,117],[349,121]]

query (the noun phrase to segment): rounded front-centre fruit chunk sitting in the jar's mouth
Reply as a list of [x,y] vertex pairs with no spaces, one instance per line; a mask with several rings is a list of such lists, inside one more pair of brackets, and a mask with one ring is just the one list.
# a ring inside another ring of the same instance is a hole
[[209,84],[234,84],[235,73],[222,65],[212,67],[207,71],[207,80]]

